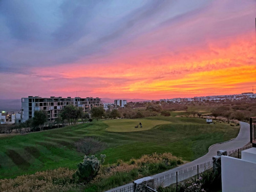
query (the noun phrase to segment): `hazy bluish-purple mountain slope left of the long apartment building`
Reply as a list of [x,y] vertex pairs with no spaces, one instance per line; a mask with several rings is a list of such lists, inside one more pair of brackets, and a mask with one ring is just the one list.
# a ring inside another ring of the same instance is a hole
[[22,109],[22,99],[0,99],[0,112],[20,111]]

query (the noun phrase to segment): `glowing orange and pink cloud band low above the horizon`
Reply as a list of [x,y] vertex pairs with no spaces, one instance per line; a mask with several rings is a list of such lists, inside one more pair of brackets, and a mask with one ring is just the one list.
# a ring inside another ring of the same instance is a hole
[[180,97],[236,94],[249,91],[256,80],[253,38],[250,33],[209,42],[204,49],[187,47],[177,53],[141,50],[132,53],[129,59],[126,59],[129,53],[122,59],[120,55],[118,59],[110,55],[105,58],[108,63],[81,60],[72,65],[36,68],[33,72],[45,76],[43,81],[56,76],[72,80],[66,86],[52,88],[59,93],[80,90],[103,97],[140,97],[140,94],[149,99],[156,95],[170,98],[177,94]]

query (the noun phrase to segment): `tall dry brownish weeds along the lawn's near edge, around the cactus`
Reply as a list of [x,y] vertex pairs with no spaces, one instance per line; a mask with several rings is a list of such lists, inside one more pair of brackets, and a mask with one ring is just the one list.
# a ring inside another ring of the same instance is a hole
[[[132,170],[141,169],[146,164],[165,163],[171,165],[172,162],[176,164],[182,163],[182,159],[173,156],[171,153],[152,155],[143,155],[139,159],[132,158],[129,162],[118,160],[115,165],[110,167],[101,167],[98,175],[91,183],[100,182],[102,179],[109,178],[118,173],[130,173]],[[179,163],[180,162],[180,163]],[[56,191],[69,191],[76,189],[82,190],[84,186],[75,184],[73,181],[73,174],[76,170],[68,168],[58,168],[54,170],[47,170],[45,172],[37,172],[33,175],[18,176],[15,179],[2,179],[0,180],[0,191],[12,192],[56,192]],[[143,177],[139,173],[136,177]]]

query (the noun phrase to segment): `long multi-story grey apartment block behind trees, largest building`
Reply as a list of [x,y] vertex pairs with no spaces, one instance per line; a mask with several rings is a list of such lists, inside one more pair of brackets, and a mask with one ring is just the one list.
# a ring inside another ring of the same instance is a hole
[[48,113],[48,120],[54,121],[58,117],[59,111],[66,105],[81,107],[84,112],[90,112],[94,106],[100,106],[100,98],[80,98],[80,97],[33,97],[22,98],[22,121],[31,119],[35,111],[44,110]]

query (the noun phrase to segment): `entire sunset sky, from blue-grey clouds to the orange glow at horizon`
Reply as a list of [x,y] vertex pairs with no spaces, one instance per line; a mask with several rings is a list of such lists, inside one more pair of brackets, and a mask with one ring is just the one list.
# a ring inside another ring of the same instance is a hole
[[0,99],[256,89],[255,0],[0,1]]

